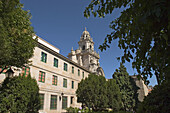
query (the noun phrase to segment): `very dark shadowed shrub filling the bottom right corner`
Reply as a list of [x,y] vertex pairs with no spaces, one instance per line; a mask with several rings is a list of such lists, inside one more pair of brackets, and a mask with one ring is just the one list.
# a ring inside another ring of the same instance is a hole
[[165,80],[161,85],[153,88],[139,106],[137,113],[169,113],[170,81]]

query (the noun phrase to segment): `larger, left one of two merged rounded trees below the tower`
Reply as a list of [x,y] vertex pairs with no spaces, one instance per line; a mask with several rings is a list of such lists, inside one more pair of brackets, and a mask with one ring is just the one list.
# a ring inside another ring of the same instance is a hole
[[88,78],[82,79],[78,84],[78,102],[94,111],[104,110],[108,103],[106,88],[106,79],[103,76],[89,74]]

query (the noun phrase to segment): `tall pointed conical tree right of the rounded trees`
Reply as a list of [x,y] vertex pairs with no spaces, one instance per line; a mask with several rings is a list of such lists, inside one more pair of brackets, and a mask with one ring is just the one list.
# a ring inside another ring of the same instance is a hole
[[120,64],[119,70],[116,69],[116,72],[114,72],[113,79],[116,80],[116,83],[119,85],[123,109],[125,111],[134,111],[138,102],[138,87],[122,63]]

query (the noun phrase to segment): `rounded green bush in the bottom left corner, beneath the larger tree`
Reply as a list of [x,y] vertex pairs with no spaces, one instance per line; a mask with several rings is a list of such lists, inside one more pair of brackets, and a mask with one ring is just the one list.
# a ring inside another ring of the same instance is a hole
[[7,77],[0,87],[0,112],[38,113],[39,87],[29,75]]

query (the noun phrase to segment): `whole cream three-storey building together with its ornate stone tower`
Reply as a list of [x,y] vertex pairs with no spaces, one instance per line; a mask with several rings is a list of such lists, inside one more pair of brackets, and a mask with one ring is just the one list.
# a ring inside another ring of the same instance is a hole
[[[67,58],[59,53],[58,48],[38,37],[38,45],[30,59],[32,65],[22,69],[12,67],[14,76],[27,76],[30,73],[37,80],[41,97],[40,112],[61,113],[70,106],[80,107],[75,93],[78,83],[89,73],[105,76],[99,65],[99,54],[94,51],[94,42],[86,29],[78,44],[79,49],[72,49]],[[0,82],[5,77],[3,73]]]

